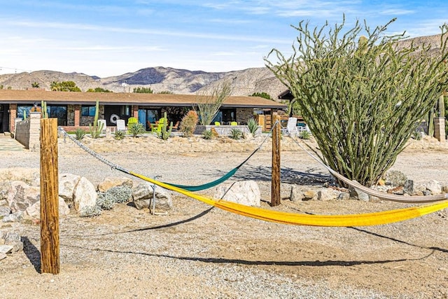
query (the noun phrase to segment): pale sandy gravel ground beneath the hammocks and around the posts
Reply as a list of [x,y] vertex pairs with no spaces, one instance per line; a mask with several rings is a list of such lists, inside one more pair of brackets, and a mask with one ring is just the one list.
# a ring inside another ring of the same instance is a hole
[[[230,146],[223,140],[207,146],[180,137],[165,143],[144,137],[85,144],[134,172],[199,184],[235,167],[260,142]],[[230,179],[256,181],[265,209],[359,214],[411,206],[381,200],[291,202],[294,184],[315,188],[332,183],[332,177],[283,139],[282,200],[270,207],[269,146]],[[436,180],[447,186],[447,154],[446,142],[411,140],[392,169],[414,183]],[[1,152],[3,169],[38,172],[38,164],[35,152]],[[92,183],[123,176],[63,139],[59,173]],[[448,298],[447,228],[447,210],[388,225],[320,228],[245,218],[173,194],[173,209],[165,216],[117,204],[93,218],[60,218],[59,274],[40,274],[39,225],[0,222],[0,230],[19,233],[25,244],[0,261],[0,291],[7,298]]]

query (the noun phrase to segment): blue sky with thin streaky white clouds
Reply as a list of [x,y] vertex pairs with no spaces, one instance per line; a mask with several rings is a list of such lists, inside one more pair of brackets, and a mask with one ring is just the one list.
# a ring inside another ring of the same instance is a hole
[[387,34],[428,36],[448,23],[448,1],[0,0],[0,74],[264,67],[273,48],[292,54],[291,25],[335,25],[343,15],[347,28],[397,18]]

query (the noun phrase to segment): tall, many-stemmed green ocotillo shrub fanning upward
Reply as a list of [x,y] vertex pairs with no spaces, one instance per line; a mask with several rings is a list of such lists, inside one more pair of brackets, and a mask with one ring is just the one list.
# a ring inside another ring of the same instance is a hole
[[[297,99],[321,159],[371,186],[393,165],[448,83],[448,25],[441,27],[441,46],[434,50],[398,45],[402,35],[384,35],[391,22],[373,31],[359,22],[347,30],[344,22],[312,30],[300,22],[293,55],[274,49],[269,55],[277,62],[265,62]],[[367,36],[359,38],[363,29]]]

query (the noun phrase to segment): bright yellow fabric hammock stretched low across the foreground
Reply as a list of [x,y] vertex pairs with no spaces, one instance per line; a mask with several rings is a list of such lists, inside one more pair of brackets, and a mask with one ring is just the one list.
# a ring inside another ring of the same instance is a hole
[[225,200],[214,200],[204,195],[195,194],[188,190],[184,190],[167,183],[162,183],[154,179],[150,179],[141,174],[129,172],[133,176],[137,176],[144,181],[154,183],[162,188],[173,190],[195,200],[200,200],[206,204],[218,207],[225,211],[230,211],[242,216],[248,216],[264,221],[272,221],[276,223],[294,224],[294,225],[311,225],[311,226],[368,226],[381,225],[393,223],[398,221],[405,221],[416,218],[426,214],[440,211],[448,207],[448,201],[438,202],[436,204],[428,204],[420,207],[409,207],[405,209],[395,209],[391,211],[379,211],[367,214],[349,214],[349,215],[309,215],[309,214],[294,214],[284,211],[271,211],[268,209],[260,209],[257,207],[248,207],[244,204],[237,204],[235,202],[228,202]]

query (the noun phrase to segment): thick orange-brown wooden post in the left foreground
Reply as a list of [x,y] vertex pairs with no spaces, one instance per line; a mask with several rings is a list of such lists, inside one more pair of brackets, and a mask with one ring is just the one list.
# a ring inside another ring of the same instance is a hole
[[59,273],[57,118],[41,119],[41,273]]

